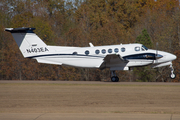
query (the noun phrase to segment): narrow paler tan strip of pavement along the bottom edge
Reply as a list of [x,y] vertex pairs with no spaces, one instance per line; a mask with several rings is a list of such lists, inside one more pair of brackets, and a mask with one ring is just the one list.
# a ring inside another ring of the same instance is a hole
[[1,120],[179,120],[180,115],[122,113],[1,113]]

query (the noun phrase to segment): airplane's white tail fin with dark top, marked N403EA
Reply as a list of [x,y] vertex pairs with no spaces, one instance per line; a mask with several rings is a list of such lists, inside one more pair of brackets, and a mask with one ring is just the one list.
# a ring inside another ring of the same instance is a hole
[[33,32],[35,28],[6,28],[14,37],[24,57],[49,51],[47,45]]

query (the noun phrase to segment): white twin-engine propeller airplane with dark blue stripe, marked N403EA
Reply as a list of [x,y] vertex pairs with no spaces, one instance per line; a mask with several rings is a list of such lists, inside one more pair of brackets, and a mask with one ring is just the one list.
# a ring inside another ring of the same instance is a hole
[[172,61],[176,56],[142,44],[119,44],[90,47],[68,47],[46,45],[34,32],[35,28],[5,28],[14,37],[25,58],[36,59],[38,63],[65,65],[81,68],[109,68],[111,81],[118,82],[116,70],[130,70],[132,67],[151,65],[152,68],[170,66],[170,77],[174,79]]

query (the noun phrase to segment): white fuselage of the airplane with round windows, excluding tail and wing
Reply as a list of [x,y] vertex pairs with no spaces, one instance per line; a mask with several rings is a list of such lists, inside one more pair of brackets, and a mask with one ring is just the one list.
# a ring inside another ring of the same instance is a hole
[[[67,65],[83,68],[99,68],[103,63],[105,56],[110,54],[119,54],[121,58],[132,56],[127,63],[120,63],[118,59],[111,59],[111,64],[107,64],[107,68],[145,66],[149,64],[166,63],[176,59],[176,56],[167,52],[158,51],[163,57],[155,59],[146,59],[146,54],[156,54],[156,50],[144,49],[142,44],[122,44],[95,47],[58,47],[47,46],[48,52],[37,53],[32,57],[38,62],[51,63],[59,65]],[[99,52],[98,52],[99,51]],[[140,56],[138,56],[140,55]],[[144,58],[139,58],[144,57]],[[158,62],[158,63],[157,63]]]

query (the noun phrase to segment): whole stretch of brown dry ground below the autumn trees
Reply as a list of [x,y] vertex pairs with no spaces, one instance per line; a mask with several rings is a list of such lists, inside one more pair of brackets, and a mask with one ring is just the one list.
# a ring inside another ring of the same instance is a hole
[[1,120],[179,120],[180,83],[0,81]]

